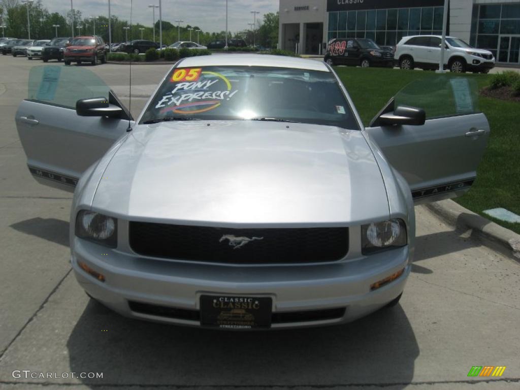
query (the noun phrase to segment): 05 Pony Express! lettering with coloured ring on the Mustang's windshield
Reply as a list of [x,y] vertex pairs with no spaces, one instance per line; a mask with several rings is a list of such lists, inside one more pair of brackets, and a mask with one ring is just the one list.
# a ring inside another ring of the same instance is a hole
[[238,89],[222,74],[201,68],[176,69],[170,79],[175,83],[170,93],[161,97],[156,109],[161,113],[198,114],[213,110],[222,101],[231,100]]

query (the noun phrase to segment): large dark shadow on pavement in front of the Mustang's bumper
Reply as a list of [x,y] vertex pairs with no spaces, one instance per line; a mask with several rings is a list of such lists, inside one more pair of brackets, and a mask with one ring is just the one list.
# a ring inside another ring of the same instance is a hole
[[[411,382],[419,346],[402,308],[353,323],[269,332],[128,319],[91,300],[67,342],[70,370],[100,385],[298,386]],[[402,386],[402,387],[401,387]]]

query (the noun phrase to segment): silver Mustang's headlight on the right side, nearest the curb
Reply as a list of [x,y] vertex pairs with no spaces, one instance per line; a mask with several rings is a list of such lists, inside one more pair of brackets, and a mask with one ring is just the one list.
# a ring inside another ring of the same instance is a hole
[[405,221],[390,219],[361,226],[361,252],[370,254],[408,243]]

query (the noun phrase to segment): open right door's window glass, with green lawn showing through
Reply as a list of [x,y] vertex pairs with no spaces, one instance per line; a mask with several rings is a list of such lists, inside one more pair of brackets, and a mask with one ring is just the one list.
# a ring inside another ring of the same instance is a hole
[[436,75],[414,81],[394,97],[395,107],[412,106],[426,111],[426,119],[478,113],[478,86],[474,79]]

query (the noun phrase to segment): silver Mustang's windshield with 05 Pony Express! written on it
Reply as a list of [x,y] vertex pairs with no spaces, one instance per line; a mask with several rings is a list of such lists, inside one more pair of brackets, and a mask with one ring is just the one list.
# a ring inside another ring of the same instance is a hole
[[330,72],[231,66],[173,69],[141,123],[197,119],[359,128]]

